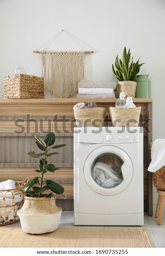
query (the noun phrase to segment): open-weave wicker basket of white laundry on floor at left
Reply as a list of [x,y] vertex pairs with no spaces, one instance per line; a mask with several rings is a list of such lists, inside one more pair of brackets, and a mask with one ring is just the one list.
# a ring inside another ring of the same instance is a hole
[[[0,190],[0,197],[2,199],[2,203],[0,203],[0,216],[3,216],[3,221],[0,221],[0,226],[13,224],[19,221],[17,211],[22,207],[24,198],[21,192],[16,191],[22,189],[27,182],[28,178],[24,181],[15,181],[16,188]],[[6,203],[7,199],[8,201],[11,201],[10,204]],[[9,220],[11,213],[13,220]]]

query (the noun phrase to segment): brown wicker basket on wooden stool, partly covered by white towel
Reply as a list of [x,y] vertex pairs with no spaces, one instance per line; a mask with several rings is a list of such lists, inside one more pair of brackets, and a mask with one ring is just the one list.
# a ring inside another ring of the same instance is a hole
[[[153,142],[150,143],[150,150],[152,148]],[[152,174],[153,185],[158,190],[165,190],[165,166],[160,168],[158,171]]]

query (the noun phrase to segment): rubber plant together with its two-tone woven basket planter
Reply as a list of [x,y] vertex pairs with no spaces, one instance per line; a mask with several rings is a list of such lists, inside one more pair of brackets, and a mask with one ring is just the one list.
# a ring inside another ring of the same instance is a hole
[[[52,232],[59,227],[62,208],[56,205],[56,195],[61,195],[65,199],[64,187],[55,183],[53,180],[45,179],[47,172],[58,170],[54,164],[48,164],[48,157],[59,154],[58,152],[50,152],[50,149],[58,149],[66,146],[65,144],[54,145],[54,133],[47,133],[44,140],[36,134],[32,134],[37,147],[41,153],[29,152],[28,155],[39,159],[37,173],[23,189],[24,204],[18,211],[21,227],[26,233],[41,234]],[[45,191],[48,191],[45,194]],[[53,194],[55,193],[55,194]]]

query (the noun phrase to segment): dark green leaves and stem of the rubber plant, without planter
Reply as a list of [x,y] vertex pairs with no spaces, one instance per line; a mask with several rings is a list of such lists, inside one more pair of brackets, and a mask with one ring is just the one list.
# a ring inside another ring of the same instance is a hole
[[[42,152],[39,154],[36,152],[29,152],[28,155],[40,159],[38,169],[34,170],[35,172],[40,173],[40,176],[34,177],[24,186],[24,194],[28,196],[31,195],[33,197],[47,198],[52,197],[53,192],[56,194],[63,194],[64,187],[58,183],[55,183],[53,180],[45,180],[45,173],[47,173],[47,171],[54,173],[54,171],[59,170],[59,168],[55,168],[54,164],[48,164],[47,162],[48,157],[59,154],[58,152],[50,152],[50,149],[58,149],[60,147],[66,146],[66,144],[54,145],[54,133],[47,133],[44,140],[42,140],[41,137],[36,134],[32,134],[32,136],[35,139],[37,147]],[[46,183],[46,185],[44,185],[44,183]],[[36,186],[36,184],[38,186]],[[45,194],[46,190],[51,190],[52,192]]]

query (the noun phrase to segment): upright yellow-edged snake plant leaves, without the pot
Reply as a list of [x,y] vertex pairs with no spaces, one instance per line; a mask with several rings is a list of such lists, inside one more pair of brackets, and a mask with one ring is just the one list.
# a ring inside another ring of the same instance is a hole
[[[138,59],[138,61],[136,63],[133,62],[133,57],[132,57],[132,61],[131,61],[130,49],[127,52],[126,47],[124,47],[122,59],[123,59],[123,62],[121,61],[121,59],[118,59],[118,55],[117,55],[117,57],[115,59],[116,71],[114,69],[114,66],[112,65],[113,74],[119,81],[134,81],[134,82],[136,82],[137,74],[140,71],[141,65],[143,65],[144,63],[139,64],[140,58]],[[130,61],[131,61],[131,63],[130,63]]]

